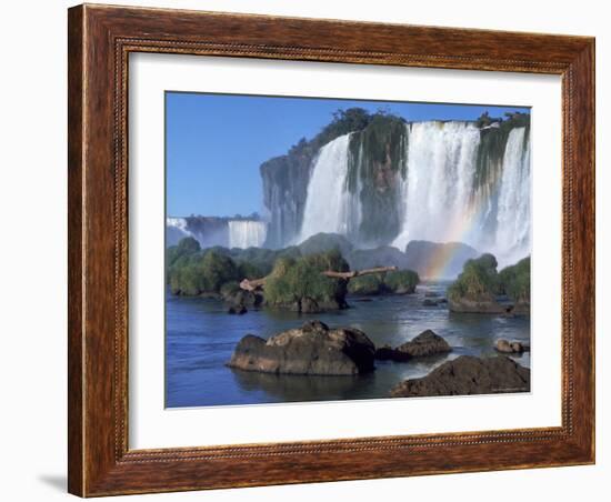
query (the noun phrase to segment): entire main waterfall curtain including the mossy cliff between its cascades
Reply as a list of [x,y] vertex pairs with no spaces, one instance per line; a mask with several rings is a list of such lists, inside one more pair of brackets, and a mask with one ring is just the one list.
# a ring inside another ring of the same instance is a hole
[[508,126],[428,121],[334,139],[313,161],[298,238],[284,245],[319,232],[359,248],[463,242],[514,263],[530,253],[530,128]]

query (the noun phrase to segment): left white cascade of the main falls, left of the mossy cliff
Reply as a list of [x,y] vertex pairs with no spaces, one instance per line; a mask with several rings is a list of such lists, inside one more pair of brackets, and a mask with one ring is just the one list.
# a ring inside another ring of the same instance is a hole
[[308,184],[308,198],[298,241],[319,232],[348,234],[358,218],[358,208],[348,191],[350,134],[320,149]]

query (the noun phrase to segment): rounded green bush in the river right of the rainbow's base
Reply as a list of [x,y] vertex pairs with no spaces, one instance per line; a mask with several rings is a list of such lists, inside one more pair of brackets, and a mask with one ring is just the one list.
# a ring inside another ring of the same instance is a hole
[[462,273],[448,288],[448,298],[453,301],[491,301],[494,300],[498,290],[497,259],[485,253],[480,258],[467,260]]

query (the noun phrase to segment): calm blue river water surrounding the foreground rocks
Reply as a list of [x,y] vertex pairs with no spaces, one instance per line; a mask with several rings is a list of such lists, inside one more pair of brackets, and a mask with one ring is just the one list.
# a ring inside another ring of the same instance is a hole
[[[445,282],[419,285],[415,294],[349,298],[350,309],[322,314],[250,310],[230,315],[218,300],[167,295],[166,406],[207,406],[296,401],[388,398],[399,382],[428,374],[462,354],[494,355],[498,339],[530,343],[529,318],[457,314],[447,305],[423,307],[424,292],[445,294]],[[331,328],[354,327],[375,344],[397,347],[430,329],[452,347],[448,355],[418,361],[377,361],[375,371],[357,376],[276,375],[226,367],[240,339],[269,338],[319,319]],[[530,368],[530,353],[513,358]]]

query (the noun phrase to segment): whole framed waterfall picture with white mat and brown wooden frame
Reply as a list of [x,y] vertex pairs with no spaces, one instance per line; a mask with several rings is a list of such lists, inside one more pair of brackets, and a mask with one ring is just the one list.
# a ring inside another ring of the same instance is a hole
[[594,40],[69,10],[69,491],[594,462]]

